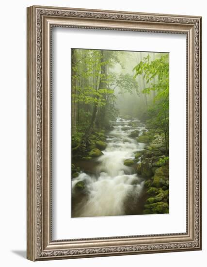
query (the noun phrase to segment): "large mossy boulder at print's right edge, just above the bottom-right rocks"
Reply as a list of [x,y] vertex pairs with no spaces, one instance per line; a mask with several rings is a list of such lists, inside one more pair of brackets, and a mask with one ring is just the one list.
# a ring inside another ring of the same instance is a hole
[[155,170],[152,186],[157,188],[166,186],[168,178],[169,178],[169,167],[168,166],[159,167]]

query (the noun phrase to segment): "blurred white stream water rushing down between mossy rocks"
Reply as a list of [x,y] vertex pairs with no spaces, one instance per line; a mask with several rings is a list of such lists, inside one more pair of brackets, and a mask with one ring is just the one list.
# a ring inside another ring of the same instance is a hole
[[[136,123],[136,128],[128,126],[129,122]],[[142,134],[145,127],[138,120],[119,117],[111,123],[114,129],[107,137],[107,147],[104,154],[96,159],[96,176],[82,172],[72,179],[73,194],[74,186],[79,181],[86,183],[88,192],[87,199],[73,207],[73,217],[126,215],[127,206],[136,205],[139,201],[144,181],[133,167],[125,166],[124,161],[134,159],[135,153],[143,150],[144,144],[138,143],[129,135],[134,130],[139,130]]]

